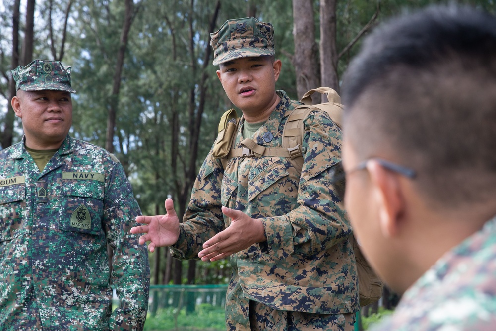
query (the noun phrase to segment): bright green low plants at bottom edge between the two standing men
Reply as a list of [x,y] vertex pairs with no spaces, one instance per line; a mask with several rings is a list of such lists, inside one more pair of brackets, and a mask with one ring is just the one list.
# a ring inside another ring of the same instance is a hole
[[195,312],[186,314],[186,309],[177,308],[160,309],[155,316],[148,314],[144,331],[168,331],[168,330],[226,330],[225,309],[210,304],[196,306]]

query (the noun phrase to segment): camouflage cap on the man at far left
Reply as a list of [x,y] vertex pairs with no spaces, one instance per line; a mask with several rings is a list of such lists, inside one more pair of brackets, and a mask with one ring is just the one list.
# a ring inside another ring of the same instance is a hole
[[76,93],[70,85],[71,67],[64,68],[60,61],[34,60],[27,66],[12,70],[15,90],[59,90]]

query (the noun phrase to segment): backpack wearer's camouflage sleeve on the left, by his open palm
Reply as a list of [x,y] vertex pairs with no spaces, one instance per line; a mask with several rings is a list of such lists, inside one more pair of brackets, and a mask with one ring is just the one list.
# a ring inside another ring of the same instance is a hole
[[198,259],[205,241],[224,230],[221,187],[224,169],[220,160],[214,159],[212,150],[200,168],[191,199],[186,209],[176,245],[171,247],[177,259]]

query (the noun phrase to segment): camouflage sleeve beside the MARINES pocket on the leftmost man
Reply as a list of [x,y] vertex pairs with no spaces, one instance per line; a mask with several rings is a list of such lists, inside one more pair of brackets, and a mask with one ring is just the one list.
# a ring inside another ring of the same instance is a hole
[[111,278],[120,300],[109,330],[142,330],[148,309],[150,266],[146,246],[139,245],[139,236],[129,232],[141,211],[120,163],[106,184],[104,203],[107,242],[114,249]]

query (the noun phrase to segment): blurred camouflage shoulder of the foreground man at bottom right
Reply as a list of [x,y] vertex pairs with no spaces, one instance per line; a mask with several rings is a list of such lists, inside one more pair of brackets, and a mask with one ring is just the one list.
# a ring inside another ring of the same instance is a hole
[[373,330],[496,330],[496,217],[438,260]]

